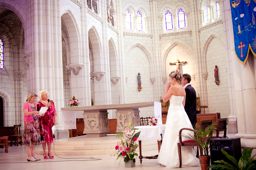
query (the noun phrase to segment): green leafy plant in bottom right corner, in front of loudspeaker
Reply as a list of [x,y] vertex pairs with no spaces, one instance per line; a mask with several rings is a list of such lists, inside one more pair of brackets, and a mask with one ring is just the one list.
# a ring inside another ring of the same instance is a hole
[[251,154],[252,154],[252,148],[244,148],[243,153],[241,158],[239,159],[239,161],[237,162],[237,160],[233,157],[230,156],[226,151],[224,151],[223,149],[221,149],[221,152],[223,154],[225,154],[225,156],[231,160],[236,167],[230,165],[228,162],[225,162],[224,160],[217,160],[214,161],[216,163],[223,163],[224,165],[218,164],[218,165],[210,165],[208,166],[207,169],[212,168],[212,169],[228,169],[228,170],[255,170],[256,169],[256,165],[253,162],[253,158],[256,155],[253,155],[251,158]]

